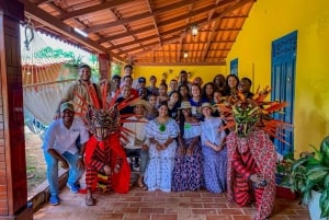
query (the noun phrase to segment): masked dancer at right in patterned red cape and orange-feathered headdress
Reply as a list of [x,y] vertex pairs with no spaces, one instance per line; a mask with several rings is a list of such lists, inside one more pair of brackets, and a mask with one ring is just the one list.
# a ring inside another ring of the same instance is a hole
[[268,117],[286,104],[264,102],[269,91],[258,92],[252,100],[239,93],[228,99],[232,103],[219,105],[220,111],[232,112],[226,127],[235,126],[226,138],[228,199],[240,206],[256,201],[256,220],[269,219],[275,199],[276,152],[269,135],[287,125]]

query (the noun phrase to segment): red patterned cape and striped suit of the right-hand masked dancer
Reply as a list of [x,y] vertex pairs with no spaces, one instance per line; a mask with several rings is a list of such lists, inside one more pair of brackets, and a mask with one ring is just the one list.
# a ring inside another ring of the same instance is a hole
[[[239,138],[231,131],[226,139],[228,149],[227,193],[228,199],[246,206],[256,199],[256,220],[266,219],[272,211],[275,199],[275,162],[276,153],[272,141],[262,131],[251,131]],[[259,173],[268,185],[253,188],[249,177]]]

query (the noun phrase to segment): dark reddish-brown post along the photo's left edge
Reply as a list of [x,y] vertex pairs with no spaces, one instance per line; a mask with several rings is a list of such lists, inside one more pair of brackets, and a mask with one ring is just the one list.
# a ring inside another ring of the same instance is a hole
[[27,205],[20,21],[23,4],[0,0],[0,219],[32,220]]

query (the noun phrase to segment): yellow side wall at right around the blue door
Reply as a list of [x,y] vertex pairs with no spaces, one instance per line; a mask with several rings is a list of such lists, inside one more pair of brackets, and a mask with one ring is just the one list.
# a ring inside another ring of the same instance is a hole
[[294,148],[298,153],[329,135],[329,1],[256,1],[229,53],[227,69],[231,59],[239,58],[239,77],[271,85],[271,43],[296,30]]

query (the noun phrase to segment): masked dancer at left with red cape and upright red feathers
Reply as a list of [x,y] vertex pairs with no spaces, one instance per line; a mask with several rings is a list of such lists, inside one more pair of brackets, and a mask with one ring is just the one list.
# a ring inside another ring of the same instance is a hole
[[86,124],[93,134],[86,146],[87,206],[95,205],[92,193],[97,187],[103,192],[112,188],[115,193],[127,193],[129,189],[131,169],[120,141],[124,121],[120,109],[129,105],[129,102],[115,104],[117,92],[107,103],[106,89],[105,83],[101,88],[102,103],[95,93],[89,91],[92,105],[88,106],[84,115]]

